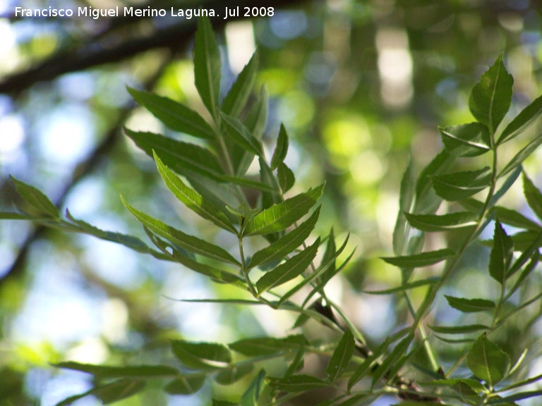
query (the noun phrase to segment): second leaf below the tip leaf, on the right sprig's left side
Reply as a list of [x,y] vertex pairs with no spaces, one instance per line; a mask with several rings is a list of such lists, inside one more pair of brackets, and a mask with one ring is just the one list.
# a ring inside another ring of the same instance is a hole
[[453,202],[466,199],[488,187],[491,182],[491,169],[486,167],[479,171],[446,173],[433,176],[431,181],[437,195]]

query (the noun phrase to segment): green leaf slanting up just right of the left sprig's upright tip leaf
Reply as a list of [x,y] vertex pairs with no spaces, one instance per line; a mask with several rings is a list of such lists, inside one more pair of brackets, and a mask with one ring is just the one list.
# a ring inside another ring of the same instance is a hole
[[228,94],[222,101],[222,111],[229,116],[239,117],[241,111],[256,82],[256,74],[258,73],[258,51],[256,51],[251,60],[241,70],[234,85],[231,86]]

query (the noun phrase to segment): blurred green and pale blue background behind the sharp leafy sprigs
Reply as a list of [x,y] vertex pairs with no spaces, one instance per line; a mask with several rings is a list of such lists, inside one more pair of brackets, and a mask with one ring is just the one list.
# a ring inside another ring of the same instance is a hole
[[[217,11],[224,5],[275,7],[270,18],[213,21],[227,61],[222,90],[229,88],[258,47],[259,82],[270,94],[265,136],[274,140],[280,122],[289,129],[287,164],[299,180],[298,190],[327,182],[319,231],[326,233],[333,227],[339,240],[351,232],[351,247],[357,246],[356,260],[342,278],[332,281],[329,294],[342,302],[375,342],[397,331],[406,314],[400,300],[361,291],[399,283],[399,271],[378,257],[391,252],[399,182],[410,157],[416,168],[423,167],[442,147],[438,125],[473,121],[467,106],[471,87],[501,52],[515,80],[511,116],[541,94],[541,10],[529,0],[231,0],[227,4],[4,0],[0,2],[1,209],[13,209],[15,204],[8,179],[12,174],[40,187],[59,206],[69,207],[73,216],[100,228],[144,238],[122,207],[122,194],[164,221],[205,238],[221,238],[210,235],[173,202],[157,181],[152,161],[122,135],[126,125],[181,137],[135,106],[126,85],[203,111],[191,61],[197,19],[46,19],[14,14],[16,6],[117,5],[167,10],[202,6]],[[539,130],[540,126],[531,131]],[[517,147],[511,143],[510,156],[515,152]],[[540,153],[534,154],[525,164],[538,187],[540,158]],[[519,190],[516,196],[507,204],[530,215]],[[453,244],[454,235],[446,238]],[[487,262],[488,249],[482,245],[468,252],[447,289],[466,297],[469,291],[489,295],[497,287],[478,283]],[[529,288],[541,290],[540,273],[533,278]],[[3,221],[0,405],[54,405],[90,387],[87,376],[57,371],[49,362],[167,363],[171,362],[167,338],[227,343],[289,331],[293,319],[282,312],[170,299],[229,294],[229,288],[208,285],[179,265],[162,264],[112,243]],[[507,328],[507,336],[502,337],[503,343],[515,336],[516,342],[531,347],[532,362],[525,364],[531,369],[525,373],[531,376],[542,371],[542,362],[536,362],[542,326],[533,323],[524,328],[541,312],[540,305],[529,308],[516,328]],[[459,313],[445,306],[437,307],[433,317],[447,324],[462,322]],[[313,332],[315,337],[321,334]],[[447,348],[441,361],[451,365],[459,350]],[[522,348],[507,350],[516,359]],[[325,368],[318,359],[311,362],[308,367]],[[283,368],[266,367],[268,371]],[[198,395],[169,400],[150,390],[119,405],[204,405],[212,391],[234,399],[236,390],[208,385]]]

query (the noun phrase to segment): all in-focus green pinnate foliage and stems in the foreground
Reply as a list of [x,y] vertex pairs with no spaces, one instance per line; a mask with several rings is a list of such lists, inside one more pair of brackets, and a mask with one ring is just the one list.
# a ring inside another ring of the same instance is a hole
[[[327,393],[319,406],[369,405],[383,395],[394,395],[397,405],[517,405],[542,396],[542,390],[531,388],[542,376],[519,373],[529,348],[517,347],[519,340],[501,340],[512,319],[527,307],[540,305],[542,293],[529,296],[526,286],[538,265],[542,226],[500,204],[521,178],[526,202],[542,221],[542,192],[522,169],[522,162],[534,153],[542,137],[524,140],[522,149],[506,154],[511,159],[500,158],[507,142],[525,133],[541,115],[542,97],[501,125],[510,109],[513,84],[502,55],[471,91],[469,109],[476,121],[439,128],[442,151],[417,176],[413,162],[406,168],[393,256],[383,257],[399,269],[401,283],[367,293],[399,295],[409,314],[404,328],[381,343],[368,343],[363,332],[326,296],[326,284],[344,269],[352,253],[345,252],[347,240],[337,241],[332,230],[311,237],[320,214],[318,199],[325,188],[314,185],[297,195],[288,193],[295,176],[284,163],[289,144],[284,126],[272,155],[265,156],[261,140],[267,94],[265,87],[254,92],[258,54],[222,101],[219,49],[206,18],[200,20],[195,35],[193,60],[195,86],[209,121],[174,100],[135,89],[129,92],[168,128],[191,135],[197,142],[131,129],[126,129],[126,135],[154,159],[169,192],[186,210],[205,219],[208,226],[229,233],[237,252],[164,223],[159,215],[140,211],[124,197],[124,206],[143,225],[152,245],[131,235],[100,230],[75,219],[69,211],[61,216],[40,190],[16,178],[12,180],[24,204],[18,213],[4,212],[1,218],[94,235],[179,263],[239,290],[239,298],[200,301],[293,312],[297,315],[292,326],[295,333],[282,338],[245,338],[228,345],[171,340],[171,362],[163,365],[61,362],[55,367],[90,374],[94,386],[58,406],[89,395],[104,404],[113,403],[140,393],[150,381],[159,381],[170,395],[196,393],[209,380],[221,386],[243,386],[235,400],[217,394],[212,400],[215,406],[281,405],[313,390]],[[259,166],[259,179],[246,175],[254,162]],[[462,168],[466,163],[470,170],[458,169],[458,162]],[[247,191],[258,192],[257,202],[248,199]],[[441,206],[445,210],[438,211]],[[487,229],[493,229],[489,240],[481,237]],[[426,239],[433,233],[459,233],[460,243],[429,250]],[[255,239],[263,244],[252,244]],[[478,242],[489,247],[484,278],[498,289],[488,297],[444,295],[459,262]],[[260,248],[248,252],[253,247]],[[420,270],[426,267],[433,269],[430,276]],[[413,300],[415,288],[423,290],[422,300]],[[303,293],[302,300],[299,293]],[[475,322],[447,323],[445,317],[431,316],[432,307],[442,297],[447,307]],[[303,333],[309,320],[330,329],[335,339],[309,340]],[[535,321],[526,321],[524,328],[531,328]],[[443,354],[450,352],[454,362],[444,362]],[[325,359],[325,374],[316,376],[304,368],[304,358],[310,354]],[[267,373],[263,363],[270,359],[286,362],[282,374]]]

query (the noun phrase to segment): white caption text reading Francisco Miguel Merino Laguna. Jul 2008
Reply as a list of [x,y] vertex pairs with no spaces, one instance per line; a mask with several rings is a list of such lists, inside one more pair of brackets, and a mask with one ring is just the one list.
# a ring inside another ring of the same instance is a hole
[[[226,7],[224,20],[229,17],[240,16],[272,16],[272,7],[245,7],[244,11],[237,7]],[[77,10],[71,8],[15,8],[16,17],[92,17],[97,20],[100,17],[219,17],[219,14],[212,8],[174,8],[171,7],[171,12],[168,13],[164,8],[135,8],[135,7],[112,7],[112,8],[94,8],[94,7],[78,7]]]

